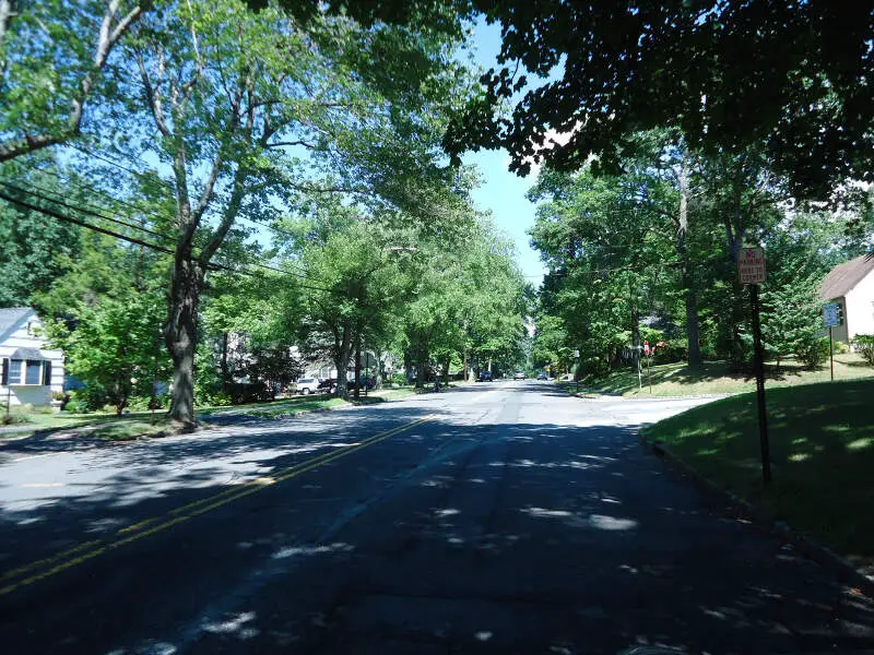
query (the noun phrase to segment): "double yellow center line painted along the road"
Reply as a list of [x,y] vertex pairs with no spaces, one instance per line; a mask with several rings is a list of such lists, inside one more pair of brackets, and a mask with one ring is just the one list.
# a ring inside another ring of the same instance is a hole
[[215,493],[214,496],[175,508],[166,514],[146,519],[145,521],[140,521],[133,525],[122,527],[109,537],[95,539],[92,541],[84,541],[49,558],[33,561],[28,564],[24,564],[23,567],[19,567],[17,569],[7,571],[0,574],[0,584],[3,585],[0,587],[0,596],[10,594],[17,588],[56,575],[61,571],[76,567],[103,555],[104,552],[125,546],[126,544],[142,539],[143,537],[147,537],[155,533],[173,527],[174,525],[178,525],[179,523],[189,521],[194,516],[211,512],[212,510],[226,505],[235,500],[257,493],[258,491],[263,490],[265,487],[288,480],[300,474],[307,473],[308,471],[312,471],[314,468],[318,468],[319,466],[323,466],[324,464],[333,462],[334,460],[339,460],[340,457],[345,457],[346,455],[367,448],[368,445],[379,443],[380,441],[385,441],[390,437],[394,437],[395,434],[415,428],[416,426],[420,426],[426,421],[433,420],[435,417],[436,415],[432,414],[430,416],[414,420],[398,428],[374,434],[364,441],[359,441],[357,443],[341,448],[340,450],[317,455],[305,462],[282,468],[273,473],[271,476],[256,478],[243,485],[226,489],[220,493]]

